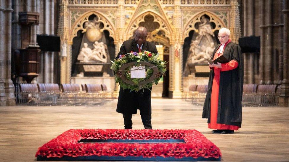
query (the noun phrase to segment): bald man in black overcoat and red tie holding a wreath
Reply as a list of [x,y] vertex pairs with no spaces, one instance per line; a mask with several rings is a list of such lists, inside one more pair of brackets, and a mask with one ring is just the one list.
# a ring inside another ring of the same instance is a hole
[[[146,41],[146,38],[147,29],[145,27],[138,27],[134,32],[134,39],[123,42],[116,58],[131,51],[143,52],[146,50],[151,53],[158,53],[156,46]],[[117,72],[117,75],[120,77],[121,72]],[[160,73],[157,73],[155,77],[160,77]],[[116,112],[123,114],[124,129],[132,129],[131,117],[132,114],[137,113],[137,109],[139,109],[145,129],[152,129],[151,90],[144,89],[144,91],[130,92],[129,89],[120,88]]]

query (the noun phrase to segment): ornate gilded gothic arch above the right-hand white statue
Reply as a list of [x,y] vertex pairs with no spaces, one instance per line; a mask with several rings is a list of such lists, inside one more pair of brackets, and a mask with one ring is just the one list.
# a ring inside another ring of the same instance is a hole
[[182,40],[184,40],[186,37],[189,37],[189,32],[191,30],[195,30],[196,32],[198,32],[198,29],[195,29],[195,23],[200,22],[200,18],[204,14],[208,15],[211,18],[210,22],[214,22],[216,24],[216,27],[215,29],[213,29],[213,32],[221,29],[222,27],[228,28],[216,14],[209,11],[198,12],[194,16],[192,16],[190,20],[184,25],[184,30],[182,32],[183,33]]

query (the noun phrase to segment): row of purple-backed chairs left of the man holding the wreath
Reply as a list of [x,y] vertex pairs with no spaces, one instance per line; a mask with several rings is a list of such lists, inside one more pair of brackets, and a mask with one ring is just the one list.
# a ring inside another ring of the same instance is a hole
[[101,105],[111,101],[105,84],[20,84],[19,105]]

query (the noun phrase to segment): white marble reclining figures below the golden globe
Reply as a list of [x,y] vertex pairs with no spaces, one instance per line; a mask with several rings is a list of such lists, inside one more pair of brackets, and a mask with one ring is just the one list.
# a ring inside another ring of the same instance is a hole
[[107,54],[105,52],[106,45],[103,42],[94,42],[94,49],[88,47],[87,43],[83,44],[84,47],[81,48],[78,54],[77,60],[81,63],[95,63],[95,62],[107,62]]

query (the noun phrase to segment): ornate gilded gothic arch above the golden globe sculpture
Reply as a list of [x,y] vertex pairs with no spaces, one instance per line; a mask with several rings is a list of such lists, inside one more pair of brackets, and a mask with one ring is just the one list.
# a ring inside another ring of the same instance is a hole
[[92,14],[95,14],[98,17],[98,21],[102,22],[104,27],[100,30],[107,30],[110,33],[110,37],[113,37],[113,39],[115,40],[115,26],[114,24],[107,18],[105,17],[104,14],[102,14],[101,12],[97,12],[97,11],[89,11],[84,13],[82,16],[80,16],[75,22],[74,24],[72,24],[71,28],[70,28],[70,35],[69,35],[69,41],[72,42],[73,37],[77,36],[77,32],[79,30],[84,30],[83,28],[83,23],[84,22],[88,22],[88,17],[91,16]]

